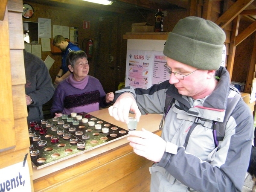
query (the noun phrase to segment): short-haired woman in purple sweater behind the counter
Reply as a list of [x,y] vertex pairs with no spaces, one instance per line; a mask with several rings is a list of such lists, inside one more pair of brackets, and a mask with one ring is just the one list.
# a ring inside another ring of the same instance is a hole
[[69,52],[66,63],[71,75],[54,92],[52,116],[97,111],[99,106],[105,107],[113,101],[114,94],[106,94],[99,80],[88,75],[90,67],[84,51]]

